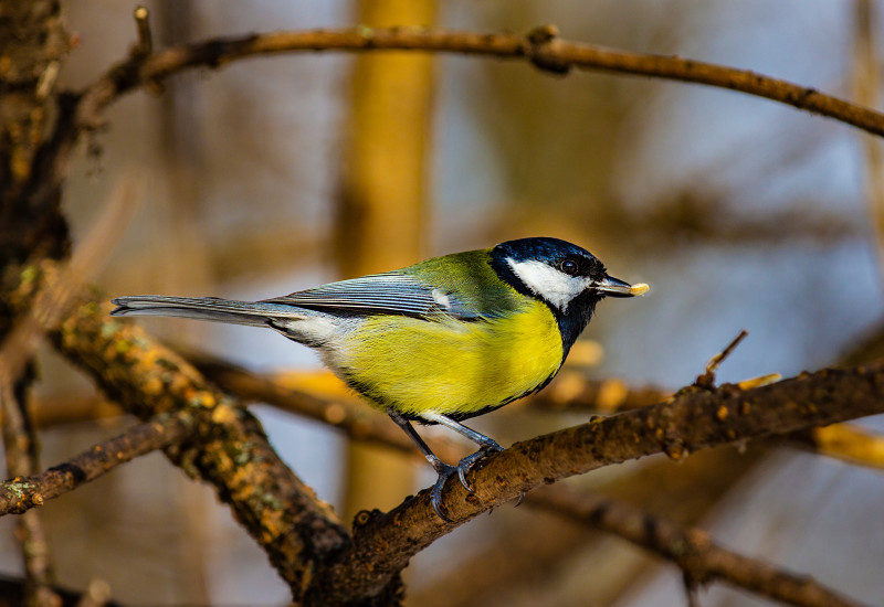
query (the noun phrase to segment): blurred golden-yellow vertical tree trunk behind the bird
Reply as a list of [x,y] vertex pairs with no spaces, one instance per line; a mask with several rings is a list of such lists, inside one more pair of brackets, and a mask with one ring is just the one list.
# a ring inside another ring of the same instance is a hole
[[[434,0],[360,0],[368,26],[431,25]],[[434,60],[404,53],[364,54],[355,62],[336,257],[346,277],[402,267],[424,253],[427,149]],[[413,464],[387,450],[350,444],[344,519],[388,508],[412,491]]]

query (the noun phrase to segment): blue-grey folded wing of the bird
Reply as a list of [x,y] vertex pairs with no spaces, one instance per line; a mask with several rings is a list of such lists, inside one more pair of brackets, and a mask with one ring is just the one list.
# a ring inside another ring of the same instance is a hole
[[478,316],[453,294],[428,286],[411,275],[394,271],[330,283],[285,297],[265,299],[264,302],[355,315],[428,317],[448,313],[461,319]]

